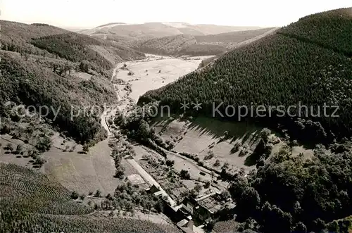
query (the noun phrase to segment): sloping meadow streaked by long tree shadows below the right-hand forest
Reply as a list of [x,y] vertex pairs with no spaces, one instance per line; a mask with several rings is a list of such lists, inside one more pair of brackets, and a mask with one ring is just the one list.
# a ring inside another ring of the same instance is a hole
[[[187,168],[194,177],[199,176],[198,171],[201,169],[199,165],[194,165],[196,164],[194,158],[199,159],[207,168],[218,171],[221,171],[222,166],[227,163],[229,172],[236,172],[239,169],[249,172],[254,168],[249,155],[258,146],[260,140],[258,134],[263,130],[263,127],[246,122],[227,122],[204,117],[158,118],[153,126],[165,141],[175,143],[172,151],[176,153],[168,152],[168,158],[175,160],[175,168],[177,170]],[[277,140],[271,155],[278,153],[283,146],[287,146],[287,142],[279,140],[275,134],[271,137],[272,141]],[[237,144],[239,149],[234,151]],[[307,158],[313,156],[313,150],[303,146],[291,146],[291,150],[294,156],[299,153],[303,153]],[[181,156],[184,153],[194,158],[187,158],[188,162],[184,163],[185,158]],[[208,175],[208,172],[206,173]],[[203,179],[207,179],[207,175],[203,176]]]

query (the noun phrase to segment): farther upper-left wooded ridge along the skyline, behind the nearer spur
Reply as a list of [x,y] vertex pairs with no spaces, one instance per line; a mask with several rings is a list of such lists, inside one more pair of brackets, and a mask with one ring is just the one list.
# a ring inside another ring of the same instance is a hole
[[114,64],[108,61],[103,53],[92,49],[92,46],[113,51],[116,60],[120,61],[131,57],[144,58],[143,53],[127,49],[114,42],[106,42],[42,24],[25,25],[2,20],[0,42],[1,49],[5,51],[59,57],[74,63],[87,62],[89,68],[106,76]]

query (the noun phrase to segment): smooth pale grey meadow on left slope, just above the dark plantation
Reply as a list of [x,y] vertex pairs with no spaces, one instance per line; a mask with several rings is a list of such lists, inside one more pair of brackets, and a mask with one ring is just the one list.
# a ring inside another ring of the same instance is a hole
[[88,194],[89,191],[100,190],[102,194],[113,194],[120,180],[114,178],[115,164],[111,155],[108,140],[101,141],[82,153],[82,146],[77,145],[73,152],[64,152],[62,138],[54,140],[54,146],[44,153],[47,163],[44,172],[54,177],[64,187]]

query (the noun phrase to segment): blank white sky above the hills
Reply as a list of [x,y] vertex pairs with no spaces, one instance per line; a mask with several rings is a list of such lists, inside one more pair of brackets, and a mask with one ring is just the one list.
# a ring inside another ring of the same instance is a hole
[[96,27],[115,22],[267,27],[351,6],[351,0],[0,0],[0,18],[59,27]]

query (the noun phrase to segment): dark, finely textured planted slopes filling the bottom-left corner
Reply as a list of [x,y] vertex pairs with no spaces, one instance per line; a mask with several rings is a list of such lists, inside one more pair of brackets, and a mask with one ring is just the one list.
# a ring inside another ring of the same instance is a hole
[[99,218],[70,191],[39,172],[0,164],[0,232],[179,233],[146,220]]

